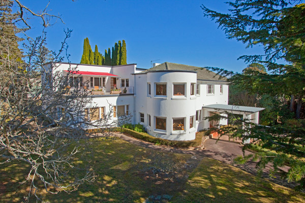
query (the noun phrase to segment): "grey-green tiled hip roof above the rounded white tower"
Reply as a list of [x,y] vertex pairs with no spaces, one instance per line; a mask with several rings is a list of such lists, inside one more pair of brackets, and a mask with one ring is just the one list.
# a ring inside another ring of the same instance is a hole
[[161,63],[159,65],[156,65],[155,67],[152,67],[151,69],[147,69],[146,71],[143,71],[142,73],[147,73],[150,71],[165,71],[165,70],[195,71],[197,72],[197,80],[227,81],[227,78],[222,77],[214,72],[211,72],[205,69],[204,67],[197,67],[197,66],[170,63],[170,62]]

